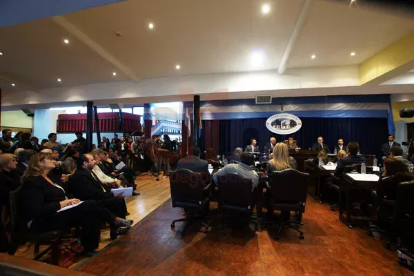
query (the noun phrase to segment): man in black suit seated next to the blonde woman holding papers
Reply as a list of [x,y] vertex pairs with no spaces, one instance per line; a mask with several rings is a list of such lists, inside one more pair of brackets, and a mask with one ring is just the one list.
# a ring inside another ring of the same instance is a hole
[[77,170],[69,179],[69,190],[77,199],[93,199],[108,208],[112,213],[125,219],[127,213],[125,200],[114,197],[110,190],[103,188],[101,181],[92,172],[95,159],[92,155],[81,155],[77,159]]

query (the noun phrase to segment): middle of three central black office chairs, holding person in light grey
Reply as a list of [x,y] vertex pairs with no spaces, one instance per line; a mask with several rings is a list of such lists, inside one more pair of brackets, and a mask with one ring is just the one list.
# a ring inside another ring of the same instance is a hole
[[222,215],[224,224],[221,233],[230,221],[242,221],[245,224],[255,223],[251,220],[253,211],[252,180],[242,177],[237,173],[219,175],[217,177],[219,191],[219,214]]

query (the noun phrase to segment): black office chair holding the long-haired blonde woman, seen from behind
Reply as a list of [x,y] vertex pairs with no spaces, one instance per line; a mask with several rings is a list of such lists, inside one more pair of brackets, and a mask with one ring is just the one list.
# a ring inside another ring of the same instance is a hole
[[[302,214],[305,212],[306,196],[308,189],[308,173],[287,169],[273,172],[270,186],[266,182],[266,188],[270,189],[270,204],[273,210],[281,211],[281,219],[277,230],[276,239],[279,239],[282,228],[293,228],[299,232],[299,239],[304,239],[304,233],[299,229],[302,224]],[[295,212],[295,219],[290,221],[290,211]],[[283,214],[289,213],[289,218],[284,220]]]

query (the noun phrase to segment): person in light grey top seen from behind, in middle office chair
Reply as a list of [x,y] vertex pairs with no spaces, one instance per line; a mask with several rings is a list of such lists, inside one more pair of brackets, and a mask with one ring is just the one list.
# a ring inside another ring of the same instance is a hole
[[218,172],[213,175],[213,180],[217,185],[217,176],[227,175],[229,173],[235,172],[242,177],[247,179],[252,179],[252,192],[259,185],[259,175],[248,166],[254,162],[253,155],[250,152],[243,152],[240,156],[240,162],[238,164],[228,164],[221,168]]

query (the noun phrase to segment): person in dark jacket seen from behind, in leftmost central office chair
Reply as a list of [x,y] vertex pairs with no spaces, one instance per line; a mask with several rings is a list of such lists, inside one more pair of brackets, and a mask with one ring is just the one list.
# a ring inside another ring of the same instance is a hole
[[181,168],[186,168],[193,172],[199,172],[203,175],[203,179],[206,179],[205,183],[210,182],[210,172],[208,171],[208,162],[206,160],[200,159],[200,149],[191,147],[188,150],[188,156],[179,159],[177,162],[177,170]]

